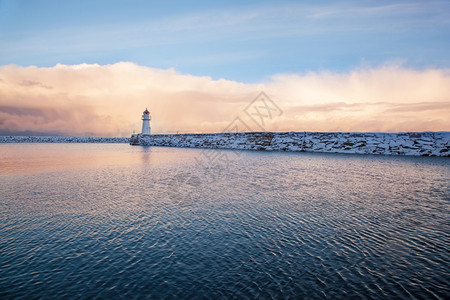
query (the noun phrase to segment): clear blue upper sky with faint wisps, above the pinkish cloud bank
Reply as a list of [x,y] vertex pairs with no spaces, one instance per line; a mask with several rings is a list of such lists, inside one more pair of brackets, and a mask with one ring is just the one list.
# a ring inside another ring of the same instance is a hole
[[0,65],[134,62],[260,82],[450,67],[450,1],[0,0]]

